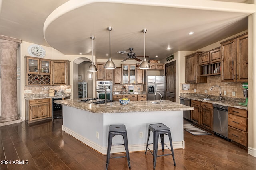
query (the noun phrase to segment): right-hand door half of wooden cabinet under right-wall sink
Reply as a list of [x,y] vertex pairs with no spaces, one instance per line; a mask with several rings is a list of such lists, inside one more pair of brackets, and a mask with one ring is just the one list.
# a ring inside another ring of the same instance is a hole
[[213,106],[211,103],[200,102],[201,120],[200,125],[210,131],[213,131]]

